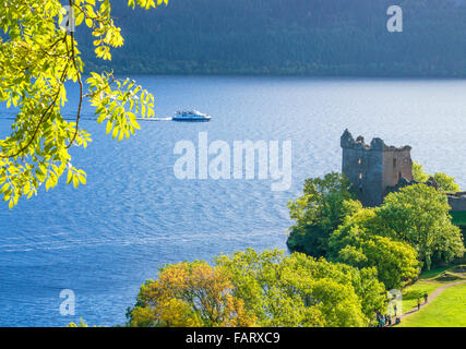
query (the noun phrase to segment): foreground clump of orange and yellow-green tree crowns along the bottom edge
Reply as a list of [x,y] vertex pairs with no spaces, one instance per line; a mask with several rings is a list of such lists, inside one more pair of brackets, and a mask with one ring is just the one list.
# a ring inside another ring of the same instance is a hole
[[279,251],[174,264],[141,288],[129,325],[367,326],[386,299],[375,273]]

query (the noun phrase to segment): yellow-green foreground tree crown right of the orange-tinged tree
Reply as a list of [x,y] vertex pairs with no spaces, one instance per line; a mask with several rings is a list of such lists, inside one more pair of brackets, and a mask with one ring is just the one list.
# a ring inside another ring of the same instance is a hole
[[220,256],[217,263],[229,270],[234,293],[261,326],[367,326],[384,306],[374,269],[253,250]]

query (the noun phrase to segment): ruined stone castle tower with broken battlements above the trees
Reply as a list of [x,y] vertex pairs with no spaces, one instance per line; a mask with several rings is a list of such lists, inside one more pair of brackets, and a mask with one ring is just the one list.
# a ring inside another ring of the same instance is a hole
[[359,136],[354,139],[348,130],[342,135],[342,172],[354,185],[365,206],[379,206],[389,186],[395,186],[403,178],[413,181],[411,147],[387,146],[381,139],[370,145]]

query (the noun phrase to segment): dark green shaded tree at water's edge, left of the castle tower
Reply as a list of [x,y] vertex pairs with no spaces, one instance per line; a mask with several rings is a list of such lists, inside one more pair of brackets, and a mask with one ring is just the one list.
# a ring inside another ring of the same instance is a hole
[[350,183],[339,173],[308,179],[303,195],[288,203],[290,217],[296,224],[290,228],[288,248],[314,257],[325,256],[330,234],[343,222],[347,214],[360,208],[353,202]]

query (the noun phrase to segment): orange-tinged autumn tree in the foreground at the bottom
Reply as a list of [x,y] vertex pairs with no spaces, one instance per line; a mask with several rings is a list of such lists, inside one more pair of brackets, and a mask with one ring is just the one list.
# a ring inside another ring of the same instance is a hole
[[178,263],[163,268],[157,280],[141,287],[128,313],[130,326],[246,327],[253,326],[241,299],[232,294],[225,269],[205,262]]

